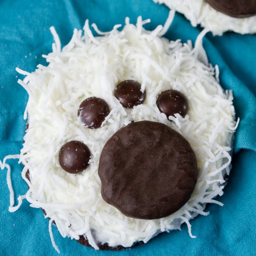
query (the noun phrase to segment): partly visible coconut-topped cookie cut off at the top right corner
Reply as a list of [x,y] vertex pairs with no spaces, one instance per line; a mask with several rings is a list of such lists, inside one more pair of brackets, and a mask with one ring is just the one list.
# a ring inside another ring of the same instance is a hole
[[214,35],[226,31],[239,34],[256,33],[255,0],[153,0],[165,4],[191,22],[193,27],[201,25]]

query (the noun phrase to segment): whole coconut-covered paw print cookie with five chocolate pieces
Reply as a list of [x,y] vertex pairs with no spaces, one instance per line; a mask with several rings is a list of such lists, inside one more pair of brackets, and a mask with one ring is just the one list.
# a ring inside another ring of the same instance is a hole
[[29,94],[26,199],[61,236],[94,249],[147,243],[182,223],[194,237],[189,220],[221,205],[229,175],[232,92],[200,40],[167,40],[147,22],[108,33],[93,24],[93,36],[86,21],[62,49],[56,40],[46,67],[18,69]]

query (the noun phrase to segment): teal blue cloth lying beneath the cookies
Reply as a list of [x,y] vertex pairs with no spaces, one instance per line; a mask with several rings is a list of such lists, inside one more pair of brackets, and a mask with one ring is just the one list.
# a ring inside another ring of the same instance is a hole
[[[17,84],[15,67],[33,71],[37,64],[46,64],[40,56],[51,51],[49,31],[54,26],[62,46],[71,38],[73,29],[81,29],[84,21],[95,22],[102,31],[115,24],[124,24],[126,16],[135,22],[137,16],[150,18],[147,29],[164,24],[168,8],[152,0],[1,0],[0,1],[0,159],[17,154],[25,131],[23,112],[26,91]],[[175,15],[169,39],[195,41],[201,27],[191,27],[181,14]],[[223,207],[207,206],[209,216],[191,221],[192,239],[187,226],[182,231],[164,233],[149,243],[119,252],[95,251],[69,238],[62,238],[53,226],[55,242],[61,255],[256,255],[256,35],[226,33],[203,40],[209,61],[220,67],[223,88],[232,89],[236,114],[241,121],[236,133],[233,169],[224,195],[217,198]],[[24,194],[26,183],[17,161],[12,167],[15,197]],[[24,201],[17,212],[9,213],[9,191],[6,169],[0,170],[0,255],[57,255],[48,234],[48,220],[39,209]]]

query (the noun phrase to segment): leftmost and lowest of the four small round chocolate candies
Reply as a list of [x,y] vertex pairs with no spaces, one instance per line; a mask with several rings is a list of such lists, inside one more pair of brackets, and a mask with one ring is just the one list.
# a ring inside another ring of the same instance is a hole
[[61,147],[59,162],[61,167],[69,173],[80,173],[88,167],[90,150],[81,141],[68,141]]

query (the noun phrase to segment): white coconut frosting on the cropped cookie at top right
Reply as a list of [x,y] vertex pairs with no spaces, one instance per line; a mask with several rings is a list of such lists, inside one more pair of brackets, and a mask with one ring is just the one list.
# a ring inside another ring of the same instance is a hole
[[256,15],[246,18],[234,18],[216,11],[205,0],[153,0],[164,3],[169,8],[185,15],[193,27],[200,24],[208,28],[214,35],[222,35],[226,31],[240,34],[256,33]]

